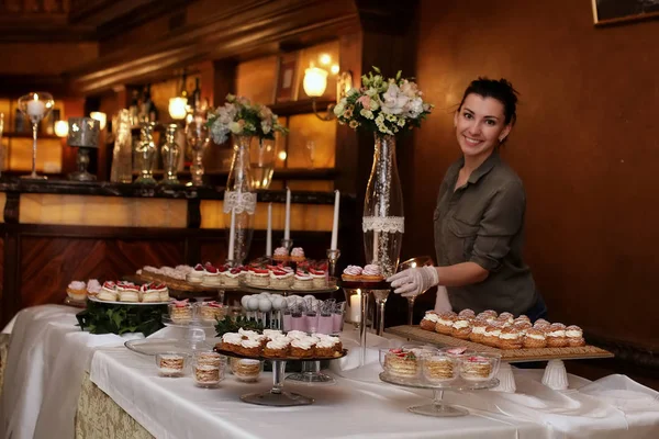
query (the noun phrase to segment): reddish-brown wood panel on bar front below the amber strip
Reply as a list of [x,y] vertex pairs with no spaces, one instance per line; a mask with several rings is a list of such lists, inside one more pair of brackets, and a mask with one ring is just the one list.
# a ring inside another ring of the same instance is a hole
[[115,280],[144,266],[185,261],[182,240],[114,240],[94,238],[21,238],[22,307],[60,303],[74,280]]

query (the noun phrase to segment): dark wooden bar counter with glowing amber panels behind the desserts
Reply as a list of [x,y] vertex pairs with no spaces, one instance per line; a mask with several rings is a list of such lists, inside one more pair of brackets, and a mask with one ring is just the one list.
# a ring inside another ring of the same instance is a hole
[[[224,189],[214,187],[0,182],[1,324],[23,307],[62,303],[74,280],[120,279],[144,266],[222,263],[228,216],[223,196]],[[273,247],[283,237],[286,192],[259,191],[250,258],[265,254],[270,202]],[[343,230],[357,226],[355,203],[342,198]],[[291,237],[310,258],[325,257],[333,204],[333,192],[292,193]],[[349,239],[339,233],[340,243]]]

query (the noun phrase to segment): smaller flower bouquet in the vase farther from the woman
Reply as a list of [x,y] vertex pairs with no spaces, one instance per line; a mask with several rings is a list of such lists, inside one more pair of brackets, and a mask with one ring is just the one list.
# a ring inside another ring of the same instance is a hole
[[275,133],[288,133],[272,110],[234,94],[227,94],[226,103],[209,113],[208,125],[216,144],[226,142],[228,134],[271,139]]

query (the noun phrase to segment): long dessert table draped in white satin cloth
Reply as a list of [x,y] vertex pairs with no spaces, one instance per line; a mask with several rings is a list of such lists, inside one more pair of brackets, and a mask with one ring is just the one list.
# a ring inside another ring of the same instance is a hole
[[[446,392],[468,416],[414,415],[406,407],[428,402],[429,391],[379,382],[377,349],[359,374],[357,356],[334,361],[334,385],[287,381],[287,390],[315,398],[313,405],[249,405],[239,396],[268,390],[269,373],[255,384],[227,375],[215,390],[194,387],[190,376],[160,378],[155,360],[129,351],[125,338],[81,333],[76,312],[47,305],[19,314],[7,363],[2,359],[1,438],[119,437],[108,436],[116,425],[104,424],[121,424],[122,437],[139,438],[659,437],[659,394],[622,375],[595,382],[570,375],[570,390],[556,392],[541,385],[541,371],[515,369],[516,394]],[[342,338],[350,348],[357,334]],[[369,335],[375,347],[396,341]]]

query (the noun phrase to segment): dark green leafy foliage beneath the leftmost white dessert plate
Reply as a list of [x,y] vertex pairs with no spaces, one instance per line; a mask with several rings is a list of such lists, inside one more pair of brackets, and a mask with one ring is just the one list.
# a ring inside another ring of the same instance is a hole
[[87,309],[76,315],[78,326],[90,334],[142,333],[145,337],[161,329],[167,305],[116,305],[87,302]]

